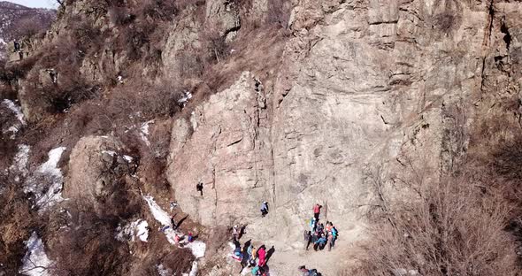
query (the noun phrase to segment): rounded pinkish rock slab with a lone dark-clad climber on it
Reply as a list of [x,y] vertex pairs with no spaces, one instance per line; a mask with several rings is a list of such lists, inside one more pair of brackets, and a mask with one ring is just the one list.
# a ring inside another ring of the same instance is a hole
[[[250,73],[177,119],[168,180],[183,211],[205,226],[248,222],[272,195],[265,98]],[[203,182],[203,196],[196,183]]]

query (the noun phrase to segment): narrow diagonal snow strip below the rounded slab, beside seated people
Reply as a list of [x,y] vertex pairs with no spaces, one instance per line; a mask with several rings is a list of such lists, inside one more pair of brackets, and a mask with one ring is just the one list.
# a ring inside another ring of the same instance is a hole
[[[175,245],[176,242],[174,242],[174,236],[176,234],[179,236],[183,236],[184,234],[179,231],[175,231],[175,230],[173,230],[173,228],[170,227],[171,218],[170,218],[169,214],[166,211],[163,211],[161,209],[161,207],[159,207],[159,205],[157,205],[157,203],[154,201],[154,198],[152,196],[143,196],[143,199],[147,202],[147,204],[149,204],[149,209],[150,209],[150,212],[152,213],[152,216],[154,217],[154,219],[156,219],[162,226],[168,226],[168,227],[165,227],[165,230],[163,232],[166,236],[167,241]],[[180,246],[180,248],[190,249],[192,251],[192,254],[194,255],[194,257],[196,257],[196,258],[204,257],[204,252],[206,250],[206,244],[204,242],[201,242],[201,241],[185,242],[182,245],[183,246],[182,247]]]

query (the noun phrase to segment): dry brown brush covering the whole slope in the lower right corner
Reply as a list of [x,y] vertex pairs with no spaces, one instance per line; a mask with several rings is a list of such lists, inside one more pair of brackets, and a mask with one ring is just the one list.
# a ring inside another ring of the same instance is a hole
[[[401,181],[409,199],[380,195],[357,275],[520,275],[522,140],[439,182]],[[382,191],[380,177],[374,186]]]

